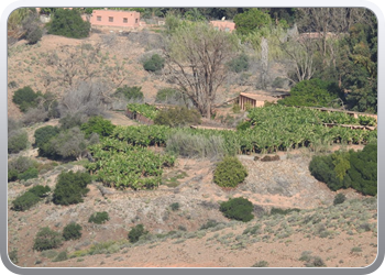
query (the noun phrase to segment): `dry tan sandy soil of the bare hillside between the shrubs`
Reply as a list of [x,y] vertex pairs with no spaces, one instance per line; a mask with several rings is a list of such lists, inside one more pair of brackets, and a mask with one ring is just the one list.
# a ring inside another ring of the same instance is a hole
[[[18,80],[19,87],[31,85],[45,92],[36,75],[41,65],[24,61],[59,45],[81,42],[97,43],[100,36],[92,34],[86,41],[76,41],[47,35],[35,46],[19,42],[22,51],[9,57],[9,81]],[[123,46],[119,48],[119,45]],[[117,44],[109,51],[133,61],[129,64],[132,74],[127,81],[131,86],[141,85],[151,100],[156,90],[167,84],[148,75],[138,64],[143,48],[138,46],[124,52],[127,45]],[[22,77],[18,72],[23,73]],[[10,88],[8,92],[8,113],[20,118],[11,100],[13,91]],[[119,125],[136,124],[119,112],[109,113],[109,118]],[[37,128],[57,123],[52,120],[29,129],[31,142]],[[38,158],[36,150],[21,154]],[[79,205],[64,207],[43,201],[25,212],[12,211],[9,206],[9,251],[18,250],[18,265],[22,267],[251,267],[260,261],[266,261],[270,267],[302,267],[306,262],[299,258],[305,251],[321,257],[328,267],[370,265],[377,255],[376,202],[363,202],[370,198],[348,189],[343,194],[349,201],[333,208],[336,193],[310,175],[308,152],[279,153],[279,161],[265,163],[253,161],[253,155],[239,156],[249,176],[235,189],[223,189],[212,183],[215,162],[180,158],[175,167],[165,170],[164,184],[156,190],[118,191],[92,183],[85,201]],[[84,168],[78,163],[59,165],[42,175],[38,183],[54,187],[63,169]],[[9,202],[29,188],[20,183],[8,186]],[[254,204],[252,221],[230,221],[219,211],[220,201],[234,197],[245,197]],[[175,202],[179,204],[179,210],[170,209]],[[301,211],[285,217],[264,216],[272,207]],[[95,211],[108,211],[110,220],[101,226],[88,223]],[[307,221],[317,216],[321,216],[321,220]],[[209,220],[218,224],[199,230]],[[81,224],[81,239],[65,242],[52,255],[67,251],[72,258],[54,262],[48,253],[32,250],[38,228],[50,227],[61,232],[70,221]],[[139,223],[144,224],[151,238],[131,244],[127,240],[128,232]],[[370,224],[370,230],[360,230],[362,223]],[[244,230],[253,226],[261,227],[258,233],[244,234]],[[176,233],[165,237],[169,231]],[[282,234],[285,232],[287,235]],[[164,237],[155,238],[156,234]],[[89,253],[95,245],[103,248]]]

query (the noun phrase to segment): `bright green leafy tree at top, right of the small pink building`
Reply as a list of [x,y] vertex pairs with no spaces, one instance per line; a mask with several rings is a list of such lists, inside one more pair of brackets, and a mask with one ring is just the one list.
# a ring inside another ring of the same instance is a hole
[[252,8],[243,13],[237,14],[233,20],[237,25],[237,33],[242,35],[257,31],[260,28],[272,23],[272,19],[268,13],[256,8]]

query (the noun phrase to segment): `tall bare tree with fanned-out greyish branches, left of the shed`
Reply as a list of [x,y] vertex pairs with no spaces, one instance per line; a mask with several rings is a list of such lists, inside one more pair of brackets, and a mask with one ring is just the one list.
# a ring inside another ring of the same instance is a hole
[[226,78],[226,63],[234,57],[237,47],[233,34],[202,22],[182,25],[166,38],[169,81],[178,85],[207,118],[211,117],[218,88]]

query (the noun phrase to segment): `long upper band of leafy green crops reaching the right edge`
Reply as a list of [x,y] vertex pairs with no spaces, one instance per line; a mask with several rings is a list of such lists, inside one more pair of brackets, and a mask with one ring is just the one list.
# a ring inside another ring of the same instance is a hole
[[112,136],[140,146],[165,146],[177,131],[191,135],[221,136],[227,154],[248,152],[276,152],[315,144],[364,144],[377,139],[377,131],[352,130],[342,127],[327,128],[323,123],[360,124],[343,112],[321,112],[316,109],[273,105],[250,110],[253,128],[244,131],[176,130],[162,125],[118,127]]

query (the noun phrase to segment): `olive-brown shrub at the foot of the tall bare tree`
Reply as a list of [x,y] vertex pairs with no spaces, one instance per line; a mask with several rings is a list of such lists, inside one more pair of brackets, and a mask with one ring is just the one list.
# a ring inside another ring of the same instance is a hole
[[157,112],[154,123],[167,127],[186,127],[201,123],[201,116],[195,109],[176,107]]

